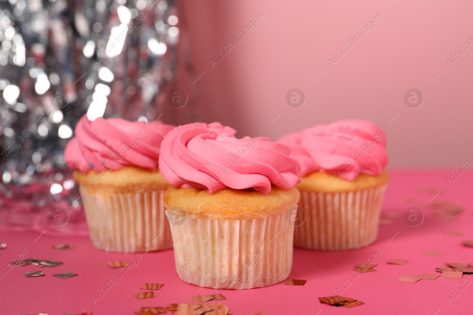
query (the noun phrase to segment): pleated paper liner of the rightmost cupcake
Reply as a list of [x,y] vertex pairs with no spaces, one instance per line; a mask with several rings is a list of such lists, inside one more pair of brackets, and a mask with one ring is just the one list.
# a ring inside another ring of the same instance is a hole
[[305,213],[305,221],[294,229],[294,246],[345,250],[376,241],[385,187],[318,196],[299,191],[298,218],[302,220]]

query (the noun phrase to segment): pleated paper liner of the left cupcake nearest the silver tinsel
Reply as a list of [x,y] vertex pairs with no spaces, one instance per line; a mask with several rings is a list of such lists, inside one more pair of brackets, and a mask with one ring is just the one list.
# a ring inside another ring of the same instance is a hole
[[133,253],[173,247],[162,202],[165,190],[90,193],[80,187],[92,244],[107,252]]

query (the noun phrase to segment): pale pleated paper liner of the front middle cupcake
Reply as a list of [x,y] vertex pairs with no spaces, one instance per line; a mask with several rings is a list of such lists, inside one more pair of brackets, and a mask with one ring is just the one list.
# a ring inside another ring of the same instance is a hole
[[[171,218],[170,222],[171,221]],[[179,277],[213,289],[269,286],[289,276],[294,227],[285,214],[171,224]]]

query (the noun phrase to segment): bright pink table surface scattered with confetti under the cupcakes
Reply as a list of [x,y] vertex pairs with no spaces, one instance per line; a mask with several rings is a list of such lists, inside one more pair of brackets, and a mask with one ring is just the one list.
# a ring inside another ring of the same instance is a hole
[[[224,292],[227,300],[220,302],[229,306],[235,315],[258,312],[266,315],[472,314],[473,284],[463,291],[457,291],[459,293],[455,299],[448,301],[446,298],[466,278],[473,280],[472,276],[463,275],[463,279],[439,277],[434,281],[421,280],[416,283],[396,281],[403,275],[435,273],[435,267],[443,266],[446,262],[473,262],[473,248],[461,243],[462,240],[473,239],[470,205],[473,173],[464,172],[448,187],[445,177],[449,173],[450,170],[390,171],[391,181],[389,192],[385,195],[382,217],[389,212],[394,215],[397,213],[398,218],[392,219],[392,225],[380,227],[379,237],[373,245],[333,253],[296,248],[289,279],[307,280],[305,286],[287,286],[280,282],[266,288],[227,290]],[[420,187],[432,187],[432,192],[420,193]],[[431,203],[449,200],[464,206],[464,212],[453,220],[432,213],[426,204],[435,195],[434,188],[441,190],[441,193]],[[406,224],[403,219],[404,211],[412,205],[419,206],[425,214],[424,221],[417,227]],[[445,230],[461,231],[463,235],[447,235]],[[34,265],[14,267],[0,279],[1,315],[40,312],[63,315],[80,313],[84,309],[94,315],[131,315],[141,306],[192,303],[188,298],[216,293],[214,289],[200,288],[181,281],[175,271],[174,253],[166,250],[142,256],[139,264],[133,266],[94,304],[92,295],[96,290],[101,289],[112,277],[118,278],[114,273],[116,269],[110,268],[105,262],[129,262],[133,255],[98,250],[91,247],[87,237],[58,238],[44,234],[38,238],[39,235],[38,232],[0,234],[0,242],[8,244],[6,249],[0,250],[1,268],[6,267],[23,248],[28,250],[26,257],[64,262],[60,266],[47,268]],[[75,248],[66,251],[52,248],[60,243],[72,244]],[[353,266],[365,262],[378,248],[383,253],[376,260],[377,271],[361,274],[355,279],[351,274]],[[438,250],[444,255],[428,256],[421,253],[427,250]],[[392,265],[386,263],[389,259],[409,259],[409,262]],[[37,270],[43,271],[46,276],[26,278],[22,273]],[[64,271],[79,275],[69,279],[52,276]],[[357,298],[365,304],[345,308],[319,303],[319,297],[333,295],[332,290],[342,286],[349,277],[353,283],[343,292],[343,296]],[[145,291],[140,290],[140,287],[146,282],[165,284],[162,289],[155,291],[158,298],[138,300],[133,296],[135,292]]]

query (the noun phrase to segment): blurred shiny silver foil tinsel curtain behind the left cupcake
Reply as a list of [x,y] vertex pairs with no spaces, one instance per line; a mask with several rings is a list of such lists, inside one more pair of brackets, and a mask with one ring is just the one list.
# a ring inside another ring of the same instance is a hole
[[[85,235],[64,147],[86,112],[178,115],[168,96],[186,22],[174,0],[0,1],[0,21],[0,229]],[[190,105],[179,115],[190,117]]]

